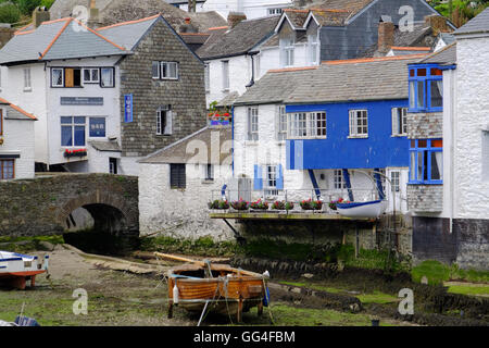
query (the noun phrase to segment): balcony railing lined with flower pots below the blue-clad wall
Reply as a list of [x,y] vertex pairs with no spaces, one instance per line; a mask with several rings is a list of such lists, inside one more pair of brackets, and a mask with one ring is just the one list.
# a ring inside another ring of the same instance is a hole
[[[213,212],[223,212],[223,211],[239,211],[239,212],[260,212],[263,210],[260,209],[251,209],[248,208],[246,210],[235,210],[230,207],[233,201],[238,201],[240,199],[247,202],[256,202],[258,200],[262,200],[268,203],[267,212],[284,212],[284,213],[328,213],[336,214],[336,210],[333,210],[329,207],[329,202],[337,201],[342,198],[344,200],[349,200],[349,191],[353,194],[355,202],[360,201],[372,201],[378,200],[378,191],[377,189],[284,189],[277,190],[275,188],[262,189],[262,190],[231,190],[231,189],[222,189],[222,190],[212,190],[211,191],[211,201],[215,200],[227,200],[229,203],[228,209],[212,209]],[[317,194],[321,192],[321,201],[323,202],[322,209],[319,210],[303,210],[300,203],[304,200],[317,201]],[[283,202],[291,202],[293,203],[293,209],[290,210],[275,210],[273,209],[273,203],[276,201]]]

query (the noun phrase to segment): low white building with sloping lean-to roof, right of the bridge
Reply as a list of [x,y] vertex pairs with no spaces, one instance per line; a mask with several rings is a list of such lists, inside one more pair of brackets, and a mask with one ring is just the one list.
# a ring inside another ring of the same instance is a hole
[[233,177],[231,129],[205,127],[140,161],[141,236],[230,240],[233,232],[209,217],[208,203],[222,198]]

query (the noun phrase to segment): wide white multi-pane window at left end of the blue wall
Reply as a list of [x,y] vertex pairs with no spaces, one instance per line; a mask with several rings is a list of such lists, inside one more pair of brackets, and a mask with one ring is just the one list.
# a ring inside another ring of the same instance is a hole
[[[318,116],[321,116],[318,119]],[[327,114],[326,111],[294,112],[288,114],[288,138],[289,139],[326,139],[327,138]],[[318,120],[324,126],[317,126]],[[322,122],[322,123],[323,123]]]

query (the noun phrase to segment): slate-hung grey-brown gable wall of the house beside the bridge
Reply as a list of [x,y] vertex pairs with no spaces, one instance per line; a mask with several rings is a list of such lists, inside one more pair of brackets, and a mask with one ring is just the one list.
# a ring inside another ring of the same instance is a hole
[[[178,62],[178,80],[153,80],[153,61]],[[123,156],[154,152],[206,125],[204,65],[163,22],[121,63]],[[124,123],[124,95],[133,94],[133,123]],[[171,104],[173,135],[156,135],[156,110]]]

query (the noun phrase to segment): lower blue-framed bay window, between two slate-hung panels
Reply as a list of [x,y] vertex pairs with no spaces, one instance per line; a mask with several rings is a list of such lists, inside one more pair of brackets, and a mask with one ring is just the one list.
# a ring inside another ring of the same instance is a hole
[[410,184],[443,184],[443,140],[416,139],[410,147]]

